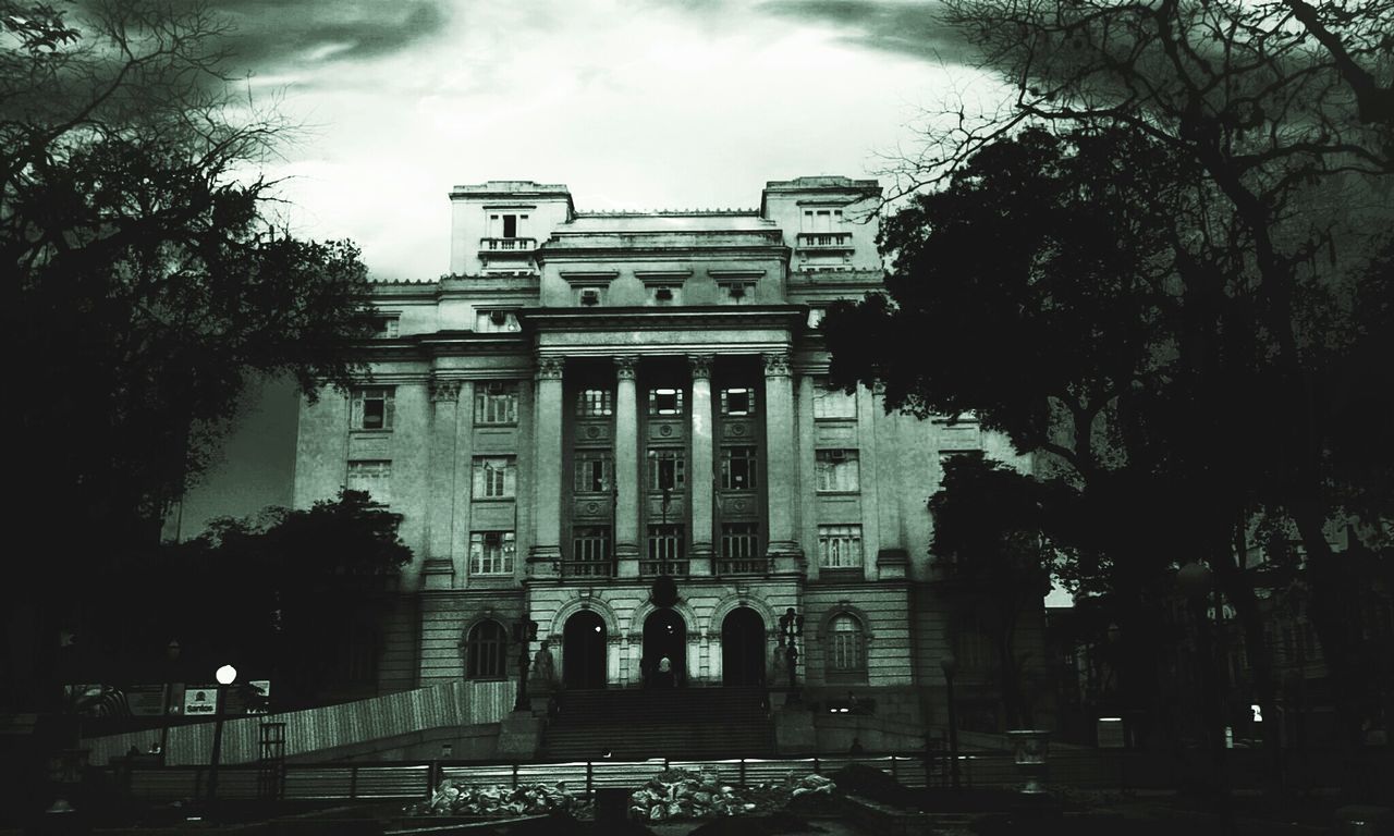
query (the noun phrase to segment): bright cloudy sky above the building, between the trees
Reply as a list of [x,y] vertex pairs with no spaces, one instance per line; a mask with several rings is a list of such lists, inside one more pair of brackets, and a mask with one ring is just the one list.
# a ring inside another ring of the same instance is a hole
[[272,174],[302,234],[379,279],[447,268],[447,189],[577,208],[756,206],[767,180],[874,176],[974,89],[910,0],[219,0],[258,100],[304,125]]

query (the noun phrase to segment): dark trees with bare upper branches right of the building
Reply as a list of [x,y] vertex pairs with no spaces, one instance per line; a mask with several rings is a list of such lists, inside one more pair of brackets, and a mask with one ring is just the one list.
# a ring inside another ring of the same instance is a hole
[[1260,705],[1260,594],[1288,571],[1354,752],[1394,691],[1387,630],[1345,598],[1390,592],[1394,8],[945,8],[1012,103],[951,114],[898,171],[887,294],[829,311],[834,376],[1041,454],[1057,568],[1111,598],[1154,718],[1175,566],[1214,571]]

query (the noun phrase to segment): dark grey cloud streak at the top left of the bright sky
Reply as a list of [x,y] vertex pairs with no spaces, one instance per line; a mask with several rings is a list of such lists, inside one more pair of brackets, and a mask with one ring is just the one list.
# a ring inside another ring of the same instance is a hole
[[[258,75],[392,54],[438,33],[449,0],[174,0],[226,21],[230,67]],[[82,4],[93,4],[91,0]]]

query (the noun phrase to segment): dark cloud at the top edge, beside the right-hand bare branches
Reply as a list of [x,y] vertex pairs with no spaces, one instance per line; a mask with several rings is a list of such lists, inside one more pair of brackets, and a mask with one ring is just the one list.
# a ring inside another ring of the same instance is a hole
[[761,11],[843,29],[848,43],[928,63],[970,64],[973,46],[942,20],[940,4],[895,0],[768,0]]

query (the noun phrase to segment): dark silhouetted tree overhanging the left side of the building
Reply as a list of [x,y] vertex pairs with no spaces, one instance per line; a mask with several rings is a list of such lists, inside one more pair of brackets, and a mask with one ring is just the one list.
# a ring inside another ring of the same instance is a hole
[[4,584],[0,702],[28,708],[56,697],[74,581],[158,542],[244,382],[346,383],[372,315],[353,244],[279,229],[258,170],[287,125],[224,71],[224,24],[146,0],[66,11],[0,0],[11,513],[38,538]]

